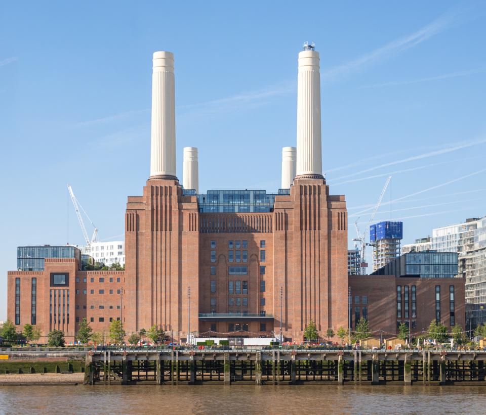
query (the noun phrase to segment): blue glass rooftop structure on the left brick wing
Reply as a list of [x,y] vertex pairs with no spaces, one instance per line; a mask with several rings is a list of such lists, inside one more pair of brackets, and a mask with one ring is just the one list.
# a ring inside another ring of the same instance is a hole
[[17,270],[44,271],[45,258],[77,258],[81,252],[73,246],[19,246],[17,248]]

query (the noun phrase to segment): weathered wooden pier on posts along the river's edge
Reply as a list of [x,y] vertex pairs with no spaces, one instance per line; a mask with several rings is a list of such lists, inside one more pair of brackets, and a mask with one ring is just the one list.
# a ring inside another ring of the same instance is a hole
[[89,385],[484,385],[486,351],[89,351]]

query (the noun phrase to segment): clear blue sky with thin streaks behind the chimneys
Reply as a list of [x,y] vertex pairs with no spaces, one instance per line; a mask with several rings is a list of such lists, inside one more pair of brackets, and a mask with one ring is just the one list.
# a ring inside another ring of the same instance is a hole
[[485,16],[451,1],[4,2],[0,319],[18,245],[83,242],[66,183],[100,239],[123,236],[149,175],[158,50],[175,54],[178,175],[198,147],[201,191],[279,187],[297,54],[313,41],[323,170],[346,195],[349,246],[388,174],[376,219],[402,219],[404,243],[484,215]]

